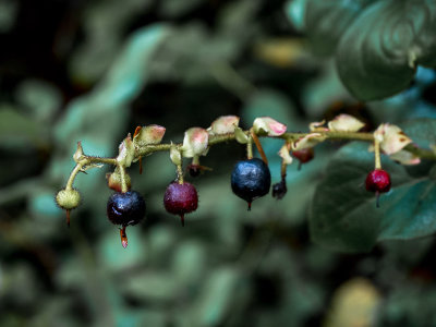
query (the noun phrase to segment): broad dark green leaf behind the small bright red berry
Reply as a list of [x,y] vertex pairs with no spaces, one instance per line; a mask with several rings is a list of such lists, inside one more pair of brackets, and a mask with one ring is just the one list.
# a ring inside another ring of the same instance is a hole
[[402,166],[384,158],[392,189],[380,197],[364,189],[374,167],[367,144],[342,147],[315,191],[310,228],[314,242],[343,252],[370,251],[383,240],[409,240],[436,231],[436,183],[412,179]]

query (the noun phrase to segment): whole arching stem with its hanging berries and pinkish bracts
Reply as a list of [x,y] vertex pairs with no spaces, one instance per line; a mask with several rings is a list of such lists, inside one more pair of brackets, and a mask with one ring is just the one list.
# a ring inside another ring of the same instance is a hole
[[[164,207],[169,214],[180,216],[184,226],[186,214],[193,213],[198,207],[198,194],[195,186],[183,180],[182,158],[192,158],[186,171],[191,177],[197,177],[208,167],[199,165],[201,156],[205,156],[210,146],[221,142],[237,141],[246,146],[246,159],[238,161],[231,172],[230,184],[232,192],[247,203],[251,210],[252,203],[258,197],[265,196],[271,189],[271,174],[268,168],[268,159],[262,148],[259,137],[276,137],[283,141],[279,152],[281,157],[281,180],[272,185],[272,196],[277,199],[283,198],[287,193],[287,166],[293,159],[301,166],[314,159],[314,146],[325,140],[343,138],[361,140],[374,143],[375,169],[371,171],[365,181],[368,192],[376,195],[376,206],[379,206],[382,193],[389,192],[389,173],[382,169],[380,153],[392,155],[404,148],[412,141],[395,125],[382,124],[373,134],[358,132],[364,124],[347,114],[340,114],[329,121],[314,122],[310,124],[310,133],[287,133],[287,126],[269,117],[256,118],[253,126],[243,131],[238,126],[239,118],[227,116],[218,118],[207,130],[192,128],[185,132],[182,144],[161,144],[166,129],[159,125],[138,126],[133,137],[129,134],[119,147],[116,158],[100,158],[86,156],[78,142],[77,150],[73,158],[75,168],[70,174],[66,186],[58,192],[57,204],[65,209],[66,222],[70,225],[70,211],[76,208],[81,202],[81,194],[73,187],[76,174],[90,168],[101,167],[104,164],[113,165],[113,172],[107,174],[108,186],[114,191],[107,204],[108,219],[120,228],[121,244],[128,246],[125,229],[128,226],[137,225],[146,214],[146,204],[137,191],[131,190],[131,178],[126,173],[132,162],[138,161],[140,173],[142,172],[142,157],[154,152],[167,150],[170,159],[177,168],[177,179],[171,182],[164,195]],[[253,143],[255,144],[262,159],[253,158]],[[415,165],[419,158],[413,156],[399,156],[404,158],[403,164]]]

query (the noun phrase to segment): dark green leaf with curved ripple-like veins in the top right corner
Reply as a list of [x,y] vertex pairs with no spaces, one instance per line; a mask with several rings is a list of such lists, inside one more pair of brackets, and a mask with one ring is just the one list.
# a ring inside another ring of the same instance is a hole
[[417,64],[436,65],[436,2],[378,1],[341,37],[336,62],[356,98],[373,100],[404,89]]

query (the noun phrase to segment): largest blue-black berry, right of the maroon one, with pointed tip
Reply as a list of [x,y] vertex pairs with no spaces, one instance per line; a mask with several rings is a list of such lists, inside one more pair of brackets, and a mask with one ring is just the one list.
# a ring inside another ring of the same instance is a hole
[[231,187],[234,194],[249,203],[268,194],[271,174],[268,166],[258,158],[237,162],[231,174]]

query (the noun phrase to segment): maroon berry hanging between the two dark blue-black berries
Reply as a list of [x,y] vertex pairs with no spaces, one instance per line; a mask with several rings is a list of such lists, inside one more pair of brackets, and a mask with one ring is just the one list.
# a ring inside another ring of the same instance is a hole
[[184,215],[195,211],[198,207],[198,195],[195,186],[191,183],[172,182],[168,185],[164,195],[165,209],[179,215],[184,226]]

